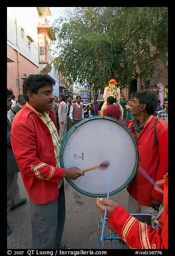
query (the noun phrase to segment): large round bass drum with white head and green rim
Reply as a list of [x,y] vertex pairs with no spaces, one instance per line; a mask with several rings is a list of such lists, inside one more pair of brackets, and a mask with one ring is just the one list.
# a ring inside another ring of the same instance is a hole
[[138,166],[138,152],[133,133],[111,117],[90,117],[72,126],[65,134],[60,151],[62,168],[85,169],[110,161],[107,168],[85,172],[76,180],[65,178],[80,193],[106,197],[109,171],[110,193],[114,195],[132,181]]

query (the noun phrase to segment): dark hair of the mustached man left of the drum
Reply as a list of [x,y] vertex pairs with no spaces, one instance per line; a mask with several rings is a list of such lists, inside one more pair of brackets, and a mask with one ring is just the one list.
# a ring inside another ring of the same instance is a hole
[[55,80],[52,79],[47,74],[32,74],[27,76],[27,79],[23,83],[23,95],[26,101],[28,101],[27,91],[32,91],[32,93],[37,94],[38,89],[50,84],[55,86]]

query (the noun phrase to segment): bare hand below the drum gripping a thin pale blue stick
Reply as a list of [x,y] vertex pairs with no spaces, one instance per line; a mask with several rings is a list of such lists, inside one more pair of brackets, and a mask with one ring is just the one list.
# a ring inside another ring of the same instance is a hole
[[118,203],[112,201],[112,200],[107,200],[106,198],[99,198],[97,197],[96,200],[96,205],[97,207],[101,210],[102,214],[105,214],[105,208],[107,205],[107,213],[106,217],[110,217],[111,212],[119,205]]

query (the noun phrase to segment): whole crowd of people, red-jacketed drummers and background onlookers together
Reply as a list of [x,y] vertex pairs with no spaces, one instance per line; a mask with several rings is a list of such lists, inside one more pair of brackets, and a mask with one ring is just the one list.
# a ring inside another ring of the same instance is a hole
[[[136,175],[127,186],[128,211],[102,198],[97,198],[97,207],[104,214],[108,205],[111,227],[130,248],[167,248],[167,191],[164,196],[162,193],[167,187],[168,173],[167,89],[162,92],[162,83],[158,83],[157,88],[136,91],[127,101],[121,96],[116,80],[111,79],[104,90],[104,103],[98,104],[97,99],[92,102],[89,98],[83,105],[81,96],[72,100],[71,95],[62,95],[58,99],[53,95],[54,85],[55,81],[48,75],[28,76],[23,95],[18,95],[18,103],[13,108],[13,91],[7,89],[7,111],[11,110],[10,116],[7,112],[8,216],[10,210],[27,201],[19,194],[20,172],[30,201],[33,248],[61,247],[65,222],[63,178],[75,180],[84,175],[77,167],[61,168],[62,141],[67,131],[84,118],[107,116],[119,120],[133,133],[139,161]],[[162,98],[162,93],[166,98]],[[149,179],[140,172],[140,167]],[[161,209],[162,223],[155,232],[128,213],[157,214]],[[129,231],[123,231],[125,225]],[[10,233],[7,225],[7,235]],[[142,243],[142,235],[147,236],[147,243]]]

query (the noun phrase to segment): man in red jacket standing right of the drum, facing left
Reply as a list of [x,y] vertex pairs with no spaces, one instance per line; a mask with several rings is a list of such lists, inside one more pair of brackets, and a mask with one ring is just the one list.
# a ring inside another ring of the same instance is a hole
[[[131,103],[131,113],[136,118],[128,122],[128,128],[137,142],[138,167],[148,174],[150,181],[163,189],[168,169],[168,126],[164,119],[153,116],[157,103],[158,98],[154,92],[136,91]],[[137,170],[127,187],[128,212],[157,213],[162,204],[163,194],[150,181]]]

